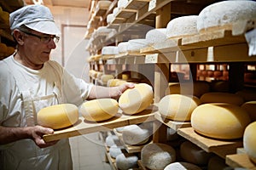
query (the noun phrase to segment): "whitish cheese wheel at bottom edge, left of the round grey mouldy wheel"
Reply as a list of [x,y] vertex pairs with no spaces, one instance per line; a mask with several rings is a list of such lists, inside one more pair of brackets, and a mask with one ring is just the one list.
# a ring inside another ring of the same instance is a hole
[[115,161],[119,170],[127,170],[137,167],[138,157],[132,154],[119,154]]

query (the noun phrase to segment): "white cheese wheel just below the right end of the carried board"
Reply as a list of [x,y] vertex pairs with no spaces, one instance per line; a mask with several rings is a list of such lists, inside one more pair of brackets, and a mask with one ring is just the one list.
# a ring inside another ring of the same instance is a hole
[[125,144],[145,144],[149,139],[149,131],[148,129],[143,129],[137,125],[130,125],[124,127],[122,130],[123,140]]

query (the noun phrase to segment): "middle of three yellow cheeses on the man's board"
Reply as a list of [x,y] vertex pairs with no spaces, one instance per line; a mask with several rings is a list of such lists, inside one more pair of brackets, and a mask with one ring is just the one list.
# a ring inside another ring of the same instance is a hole
[[119,104],[115,99],[92,99],[81,105],[80,113],[90,122],[106,121],[119,111]]

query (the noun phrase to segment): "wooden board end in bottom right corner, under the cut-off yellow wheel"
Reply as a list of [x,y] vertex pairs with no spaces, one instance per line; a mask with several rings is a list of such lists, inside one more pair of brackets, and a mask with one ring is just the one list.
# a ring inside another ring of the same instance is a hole
[[233,154],[226,156],[226,164],[230,167],[243,167],[256,170],[256,165],[249,159],[247,154]]

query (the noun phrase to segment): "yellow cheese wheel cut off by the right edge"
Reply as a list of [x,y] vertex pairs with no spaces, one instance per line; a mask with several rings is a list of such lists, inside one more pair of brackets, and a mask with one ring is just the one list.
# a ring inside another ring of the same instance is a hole
[[250,159],[256,163],[256,122],[250,123],[243,134],[243,147]]

